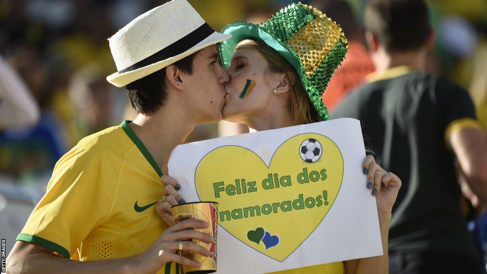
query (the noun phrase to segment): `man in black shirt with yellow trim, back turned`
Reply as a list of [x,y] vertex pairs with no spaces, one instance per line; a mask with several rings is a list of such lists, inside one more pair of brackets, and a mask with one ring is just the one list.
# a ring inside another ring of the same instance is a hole
[[480,273],[454,158],[487,199],[487,142],[468,93],[425,71],[433,44],[423,0],[372,0],[366,38],[377,71],[332,117],[360,119],[366,146],[404,182],[389,233],[391,273]]

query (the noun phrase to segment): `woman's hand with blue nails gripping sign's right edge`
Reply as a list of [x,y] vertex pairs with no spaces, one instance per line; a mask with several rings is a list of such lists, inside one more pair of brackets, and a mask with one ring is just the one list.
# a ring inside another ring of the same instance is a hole
[[379,215],[390,215],[401,188],[401,179],[394,173],[385,171],[371,155],[365,157],[362,168],[363,173],[367,175],[367,188],[372,190],[372,195],[377,199]]

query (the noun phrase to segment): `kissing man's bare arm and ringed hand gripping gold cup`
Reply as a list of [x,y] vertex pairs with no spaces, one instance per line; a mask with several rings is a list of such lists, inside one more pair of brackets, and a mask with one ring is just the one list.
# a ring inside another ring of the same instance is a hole
[[208,223],[200,220],[186,220],[165,230],[159,239],[140,255],[123,259],[78,262],[61,258],[52,254],[48,249],[17,241],[6,260],[7,273],[37,274],[37,273],[75,273],[75,274],[104,274],[104,273],[142,273],[158,272],[166,263],[175,262],[194,268],[201,264],[176,255],[179,243],[183,243],[183,250],[199,253],[205,257],[211,252],[187,239],[195,239],[205,243],[213,243],[212,236],[194,229],[208,228]]

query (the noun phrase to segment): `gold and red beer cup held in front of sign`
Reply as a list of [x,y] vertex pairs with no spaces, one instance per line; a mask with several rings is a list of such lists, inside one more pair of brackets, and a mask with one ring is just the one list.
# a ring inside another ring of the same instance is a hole
[[212,244],[204,243],[199,240],[192,240],[193,243],[209,250],[212,255],[205,257],[201,254],[182,251],[181,256],[194,260],[201,264],[201,268],[182,266],[185,274],[205,274],[217,271],[217,229],[218,229],[218,203],[216,202],[195,202],[176,205],[171,208],[174,222],[180,223],[184,220],[201,220],[209,224],[206,229],[195,229],[195,231],[209,234],[215,239]]

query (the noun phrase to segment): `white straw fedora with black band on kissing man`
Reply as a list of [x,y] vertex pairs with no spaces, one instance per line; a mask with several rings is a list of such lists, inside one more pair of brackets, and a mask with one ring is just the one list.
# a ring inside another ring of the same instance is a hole
[[213,30],[187,0],[172,0],[139,15],[108,39],[118,71],[107,81],[125,86],[231,37]]

